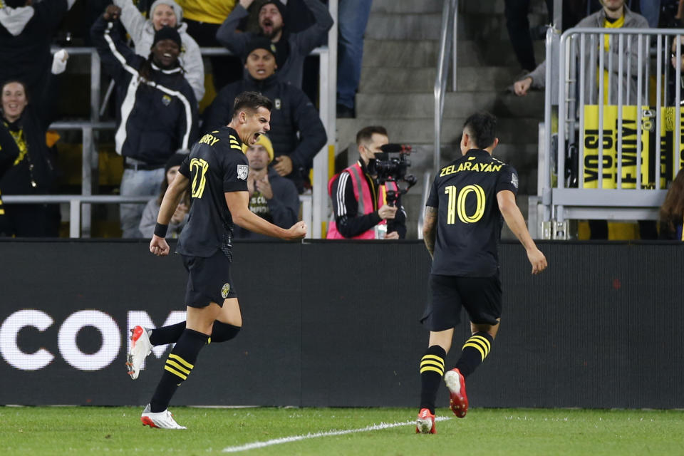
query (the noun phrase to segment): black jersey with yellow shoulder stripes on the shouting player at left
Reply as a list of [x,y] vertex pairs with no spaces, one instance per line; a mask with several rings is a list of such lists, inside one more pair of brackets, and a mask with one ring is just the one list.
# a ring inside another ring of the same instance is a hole
[[211,257],[221,249],[232,257],[233,219],[225,192],[247,192],[249,164],[235,130],[222,127],[192,146],[179,172],[190,180],[190,217],[176,252]]

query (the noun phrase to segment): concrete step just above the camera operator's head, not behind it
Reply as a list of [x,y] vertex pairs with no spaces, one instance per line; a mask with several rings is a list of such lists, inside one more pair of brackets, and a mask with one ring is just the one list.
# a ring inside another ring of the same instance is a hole
[[[525,97],[494,91],[447,93],[445,118],[458,118],[475,110],[488,110],[499,117],[541,119],[544,117],[544,93],[534,91]],[[432,93],[360,93],[356,96],[356,113],[360,118],[433,119],[435,96]]]

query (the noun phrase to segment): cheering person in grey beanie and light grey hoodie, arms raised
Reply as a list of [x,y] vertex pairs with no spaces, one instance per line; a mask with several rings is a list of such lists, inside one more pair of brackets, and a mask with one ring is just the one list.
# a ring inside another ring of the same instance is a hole
[[174,0],[156,0],[150,6],[150,19],[145,19],[133,0],[113,0],[121,9],[120,19],[126,32],[135,44],[135,53],[147,58],[154,46],[155,34],[163,27],[175,29],[179,35],[180,55],[178,63],[185,71],[185,79],[190,83],[195,99],[199,102],[204,96],[204,63],[195,39],[187,33],[183,22],[183,10]]

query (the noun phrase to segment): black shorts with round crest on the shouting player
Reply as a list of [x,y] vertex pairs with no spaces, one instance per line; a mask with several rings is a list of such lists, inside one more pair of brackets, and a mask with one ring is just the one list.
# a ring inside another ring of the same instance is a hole
[[211,257],[181,255],[187,270],[185,305],[206,307],[212,302],[223,306],[224,299],[237,298],[230,276],[230,260],[217,250]]

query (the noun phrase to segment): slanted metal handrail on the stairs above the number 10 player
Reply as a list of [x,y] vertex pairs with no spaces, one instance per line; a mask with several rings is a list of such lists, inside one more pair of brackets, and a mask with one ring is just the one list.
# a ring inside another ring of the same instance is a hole
[[440,32],[440,55],[437,60],[437,76],[435,78],[435,151],[432,156],[432,167],[440,169],[442,114],[447,92],[449,76],[449,58],[452,51],[452,90],[456,91],[456,51],[457,51],[458,0],[445,0],[442,7],[442,29]]

